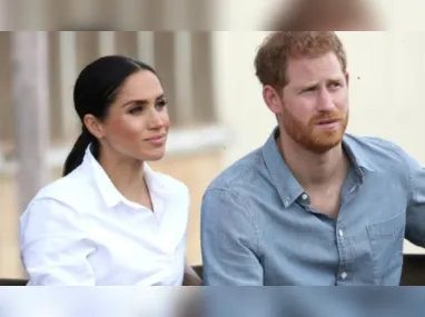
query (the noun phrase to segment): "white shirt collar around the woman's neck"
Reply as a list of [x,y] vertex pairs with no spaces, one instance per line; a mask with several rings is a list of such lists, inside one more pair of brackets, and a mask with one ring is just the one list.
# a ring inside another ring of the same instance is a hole
[[[137,209],[144,208],[142,206],[128,200],[126,197],[123,197],[121,192],[119,192],[119,190],[115,187],[109,176],[106,174],[105,169],[93,157],[90,150],[90,146],[86,149],[82,164],[91,171],[95,185],[98,188],[103,201],[109,208],[115,207],[120,202],[123,202]],[[165,180],[161,178],[161,176],[154,171],[150,168],[150,166],[148,166],[148,164],[146,162],[144,164],[144,174],[150,195],[165,196],[170,194],[169,186],[166,186]]]

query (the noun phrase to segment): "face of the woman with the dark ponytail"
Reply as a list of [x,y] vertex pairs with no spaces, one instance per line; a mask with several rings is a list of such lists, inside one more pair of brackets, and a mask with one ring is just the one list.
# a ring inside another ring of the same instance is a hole
[[99,127],[103,152],[112,150],[141,161],[161,159],[169,117],[158,77],[147,70],[128,77]]

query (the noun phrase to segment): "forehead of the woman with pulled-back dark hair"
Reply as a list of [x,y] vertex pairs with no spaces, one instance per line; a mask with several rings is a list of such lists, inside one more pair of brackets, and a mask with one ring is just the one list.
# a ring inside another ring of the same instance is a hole
[[155,99],[162,93],[158,77],[151,71],[140,70],[126,79],[120,91],[120,99]]

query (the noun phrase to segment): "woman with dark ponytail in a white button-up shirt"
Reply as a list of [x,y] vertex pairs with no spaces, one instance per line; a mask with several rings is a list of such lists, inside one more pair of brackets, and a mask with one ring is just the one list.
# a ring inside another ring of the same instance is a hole
[[147,165],[169,129],[155,70],[102,57],[79,75],[73,102],[82,131],[63,177],[20,219],[28,285],[199,285],[185,265],[188,189]]

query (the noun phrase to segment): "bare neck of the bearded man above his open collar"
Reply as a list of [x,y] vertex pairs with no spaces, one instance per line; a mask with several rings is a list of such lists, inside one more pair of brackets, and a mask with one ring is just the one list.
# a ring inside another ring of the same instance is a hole
[[312,152],[289,136],[279,137],[277,141],[285,162],[303,188],[327,186],[345,178],[348,159],[343,146],[324,152]]

